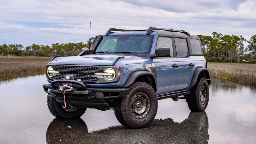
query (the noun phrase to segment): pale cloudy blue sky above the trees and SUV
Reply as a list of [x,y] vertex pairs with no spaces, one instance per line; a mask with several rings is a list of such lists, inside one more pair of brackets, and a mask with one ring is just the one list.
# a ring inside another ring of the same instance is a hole
[[109,28],[256,35],[256,0],[0,0],[0,44],[86,43]]

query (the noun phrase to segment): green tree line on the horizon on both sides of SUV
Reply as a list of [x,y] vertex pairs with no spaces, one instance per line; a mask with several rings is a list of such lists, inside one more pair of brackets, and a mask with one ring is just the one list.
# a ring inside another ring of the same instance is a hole
[[[222,35],[212,32],[211,36],[197,35],[201,39],[204,57],[209,61],[242,62],[256,61],[256,35],[250,40],[244,36]],[[87,44],[67,43],[39,45],[32,44],[23,47],[21,44],[3,44],[0,45],[0,55],[15,56],[76,56],[83,47],[89,48],[94,37],[87,40]]]

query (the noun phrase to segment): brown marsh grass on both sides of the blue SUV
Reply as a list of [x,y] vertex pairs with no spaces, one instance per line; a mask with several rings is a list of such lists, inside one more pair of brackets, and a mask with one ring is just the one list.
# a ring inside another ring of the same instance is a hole
[[[0,81],[44,74],[50,57],[0,56]],[[208,63],[211,77],[256,85],[256,64]]]

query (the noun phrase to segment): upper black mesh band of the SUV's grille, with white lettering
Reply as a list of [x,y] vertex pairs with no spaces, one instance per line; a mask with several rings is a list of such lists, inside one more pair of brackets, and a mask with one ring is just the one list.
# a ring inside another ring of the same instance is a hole
[[100,68],[95,66],[64,66],[64,65],[56,65],[55,68],[58,71],[73,71],[73,72],[95,72],[99,70]]

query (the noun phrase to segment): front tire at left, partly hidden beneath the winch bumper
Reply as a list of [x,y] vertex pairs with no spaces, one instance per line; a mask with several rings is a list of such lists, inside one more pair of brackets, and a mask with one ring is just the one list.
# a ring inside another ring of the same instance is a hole
[[81,117],[87,108],[77,108],[72,111],[67,111],[58,103],[55,98],[51,95],[47,95],[47,106],[49,111],[56,118],[79,118]]

